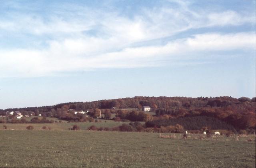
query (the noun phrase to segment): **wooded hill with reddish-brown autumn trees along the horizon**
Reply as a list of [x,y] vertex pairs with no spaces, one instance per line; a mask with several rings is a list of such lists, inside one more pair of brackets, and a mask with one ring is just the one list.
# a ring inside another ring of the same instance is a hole
[[[150,106],[150,111],[154,113],[142,112],[142,106]],[[250,128],[255,130],[256,128],[256,98],[241,97],[237,99],[228,96],[215,98],[135,96],[134,98],[94,102],[69,102],[55,106],[5,109],[0,110],[0,115],[7,115],[7,111],[20,111],[23,115],[38,116],[40,114],[68,121],[86,120],[84,118],[86,115],[74,115],[68,109],[77,111],[93,109],[89,112],[89,115],[92,117],[99,117],[99,109],[102,109],[101,111],[105,119],[110,119],[110,113],[113,113],[116,116],[114,120],[118,118],[119,120],[146,121],[148,125],[158,127],[162,126],[161,124],[165,126],[166,124],[179,122],[187,128],[190,126],[191,129],[194,129],[199,127],[199,125],[191,127],[191,123],[195,121],[201,122],[199,123],[201,125],[204,123],[206,123],[204,125],[209,125],[212,121],[216,121],[216,123],[226,122],[236,129]],[[152,116],[153,114],[155,115]],[[219,128],[229,129],[229,126],[222,123],[222,127]]]

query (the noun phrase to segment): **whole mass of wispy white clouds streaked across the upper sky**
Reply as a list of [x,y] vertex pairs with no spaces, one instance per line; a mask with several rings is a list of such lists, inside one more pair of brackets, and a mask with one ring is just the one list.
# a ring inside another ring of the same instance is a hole
[[[24,41],[32,36],[44,45],[0,48],[0,77],[162,66],[167,58],[196,59],[205,51],[254,50],[255,32],[190,33],[186,38],[161,45],[146,43],[187,30],[243,24],[255,25],[254,15],[232,10],[192,10],[187,2],[178,2],[178,8],[142,8],[132,18],[82,7],[71,12],[58,8],[45,16],[36,12],[6,12],[5,17],[0,17],[2,34],[7,34],[13,43],[17,34],[23,34]],[[142,45],[134,46],[137,42]]]

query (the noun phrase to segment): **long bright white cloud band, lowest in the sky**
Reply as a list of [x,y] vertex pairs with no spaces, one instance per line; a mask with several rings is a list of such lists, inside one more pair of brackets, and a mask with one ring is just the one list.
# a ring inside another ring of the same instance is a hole
[[[48,76],[58,72],[94,68],[135,68],[161,66],[162,61],[202,58],[201,52],[254,50],[254,32],[237,34],[198,34],[168,42],[163,46],[124,48],[90,56],[95,48],[83,48],[87,41],[54,42],[46,50],[0,51],[0,77]],[[207,58],[207,56],[204,56]]]

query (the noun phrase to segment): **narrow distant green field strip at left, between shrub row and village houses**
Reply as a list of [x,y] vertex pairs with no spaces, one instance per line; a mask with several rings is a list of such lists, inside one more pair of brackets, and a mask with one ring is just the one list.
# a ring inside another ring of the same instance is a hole
[[[3,129],[3,126],[6,125],[7,129],[14,129],[14,130],[26,130],[26,127],[31,125],[34,127],[35,130],[42,130],[43,126],[47,126],[52,128],[52,130],[68,130],[68,128],[72,128],[73,125],[77,125],[82,130],[86,130],[90,126],[94,125],[96,127],[114,127],[114,126],[120,126],[124,123],[129,124],[130,122],[115,122],[113,120],[99,120],[99,122],[57,122],[57,123],[43,123],[43,124],[0,124],[0,130]],[[100,122],[101,121],[101,122]],[[106,122],[105,122],[106,121]],[[142,122],[144,123],[144,122]]]

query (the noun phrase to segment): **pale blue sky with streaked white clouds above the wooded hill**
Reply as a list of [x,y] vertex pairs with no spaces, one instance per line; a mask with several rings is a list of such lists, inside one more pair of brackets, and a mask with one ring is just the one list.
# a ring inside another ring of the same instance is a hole
[[256,96],[254,0],[0,0],[0,109]]

